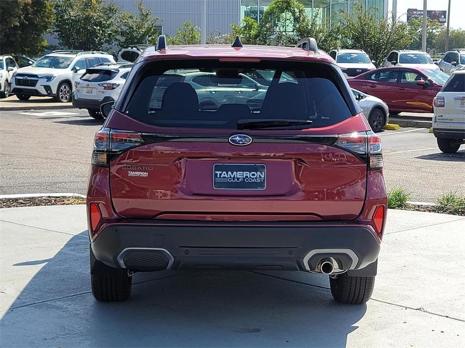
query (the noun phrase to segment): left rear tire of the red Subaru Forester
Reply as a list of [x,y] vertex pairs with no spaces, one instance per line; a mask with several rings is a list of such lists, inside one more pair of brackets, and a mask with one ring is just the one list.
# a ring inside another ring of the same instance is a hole
[[131,295],[132,277],[115,274],[91,274],[92,295],[101,302],[118,302]]

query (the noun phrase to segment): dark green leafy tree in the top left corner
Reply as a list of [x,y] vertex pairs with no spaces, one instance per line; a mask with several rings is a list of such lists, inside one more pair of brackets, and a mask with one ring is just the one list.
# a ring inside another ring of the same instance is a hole
[[42,37],[53,21],[53,4],[47,0],[0,1],[0,52],[36,55],[47,48]]

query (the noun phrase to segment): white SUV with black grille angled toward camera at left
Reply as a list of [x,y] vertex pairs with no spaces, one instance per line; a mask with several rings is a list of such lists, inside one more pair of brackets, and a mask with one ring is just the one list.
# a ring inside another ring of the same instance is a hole
[[113,56],[106,52],[54,51],[31,66],[18,69],[12,81],[12,91],[21,100],[34,95],[69,102],[74,81],[86,68],[114,62]]

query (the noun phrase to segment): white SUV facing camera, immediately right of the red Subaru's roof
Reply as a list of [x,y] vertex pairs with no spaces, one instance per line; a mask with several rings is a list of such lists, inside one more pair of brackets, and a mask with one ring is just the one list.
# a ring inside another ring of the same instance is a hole
[[353,77],[376,69],[373,61],[363,50],[332,50],[329,55],[347,76]]

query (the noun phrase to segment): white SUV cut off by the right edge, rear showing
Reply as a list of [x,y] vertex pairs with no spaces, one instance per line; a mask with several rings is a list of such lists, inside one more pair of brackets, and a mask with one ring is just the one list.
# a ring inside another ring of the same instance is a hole
[[433,133],[442,152],[465,144],[465,70],[452,73],[433,100]]

